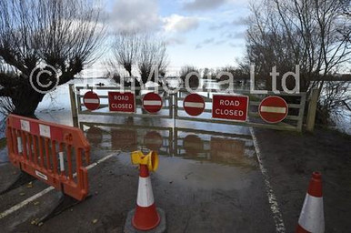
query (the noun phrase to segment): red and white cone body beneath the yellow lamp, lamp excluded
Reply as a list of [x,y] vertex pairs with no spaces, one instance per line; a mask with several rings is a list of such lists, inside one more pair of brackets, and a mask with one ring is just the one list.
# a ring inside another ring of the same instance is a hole
[[160,223],[157,213],[151,179],[146,165],[140,165],[135,214],[132,224],[136,229],[149,230]]

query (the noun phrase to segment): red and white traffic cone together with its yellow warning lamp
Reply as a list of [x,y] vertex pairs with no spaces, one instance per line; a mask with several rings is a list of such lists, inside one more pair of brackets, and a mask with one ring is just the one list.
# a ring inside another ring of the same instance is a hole
[[150,230],[156,228],[161,221],[155,206],[149,175],[149,170],[155,171],[157,169],[158,157],[154,151],[146,156],[141,151],[135,151],[132,153],[132,163],[140,167],[136,208],[132,218],[132,225],[138,230]]

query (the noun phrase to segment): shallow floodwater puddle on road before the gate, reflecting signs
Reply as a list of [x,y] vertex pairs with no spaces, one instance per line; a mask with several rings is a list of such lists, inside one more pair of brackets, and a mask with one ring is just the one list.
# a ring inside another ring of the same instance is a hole
[[[128,152],[136,149],[157,151],[160,155],[157,177],[175,187],[182,194],[182,200],[186,195],[194,195],[194,191],[211,195],[214,190],[247,190],[255,184],[259,173],[249,135],[131,123],[81,122],[80,127],[88,139],[96,139],[94,143],[98,150],[127,152],[118,157],[118,161],[127,167],[132,166]],[[95,133],[103,136],[94,136]]]

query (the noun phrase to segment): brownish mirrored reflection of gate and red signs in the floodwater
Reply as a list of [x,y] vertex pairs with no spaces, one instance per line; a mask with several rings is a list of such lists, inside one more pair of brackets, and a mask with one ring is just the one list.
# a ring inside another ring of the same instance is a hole
[[256,169],[250,137],[224,137],[204,130],[81,122],[89,142],[105,150],[155,150],[160,156]]

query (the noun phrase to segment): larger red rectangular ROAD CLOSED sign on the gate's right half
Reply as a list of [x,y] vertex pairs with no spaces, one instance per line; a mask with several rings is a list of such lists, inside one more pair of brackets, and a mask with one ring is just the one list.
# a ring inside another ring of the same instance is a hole
[[246,121],[248,96],[216,95],[212,99],[212,117]]

